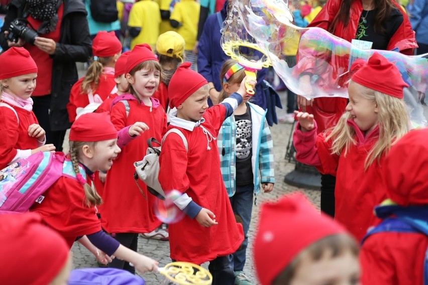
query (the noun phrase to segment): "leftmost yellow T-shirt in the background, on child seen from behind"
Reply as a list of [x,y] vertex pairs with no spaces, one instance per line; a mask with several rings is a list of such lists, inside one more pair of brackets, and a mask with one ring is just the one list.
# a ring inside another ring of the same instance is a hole
[[128,26],[141,28],[141,32],[131,40],[131,49],[135,45],[147,43],[154,50],[159,37],[160,22],[160,10],[156,2],[141,0],[135,3],[129,13]]

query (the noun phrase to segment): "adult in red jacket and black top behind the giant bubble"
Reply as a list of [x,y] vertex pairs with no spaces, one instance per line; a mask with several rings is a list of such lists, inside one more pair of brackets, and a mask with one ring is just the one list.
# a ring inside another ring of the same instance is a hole
[[[394,0],[329,0],[308,27],[322,28],[348,42],[353,39],[372,42],[372,49],[376,50],[398,48],[399,52],[412,55],[413,49],[417,47],[408,17]],[[304,52],[304,49],[299,49],[297,57],[299,58],[299,55]],[[335,65],[340,65],[344,71],[347,71],[347,56],[335,56],[331,62],[335,62]],[[311,62],[315,63],[315,61]],[[300,63],[300,65],[303,65],[299,68],[299,73],[303,74],[300,80],[311,84],[309,83],[311,79],[314,80],[311,77],[314,75],[314,64],[308,66]],[[299,60],[297,66],[299,66]],[[342,73],[338,72],[337,75]],[[332,76],[332,74],[327,75]],[[337,124],[345,111],[347,99],[315,98],[309,106],[305,98],[298,96],[297,103],[299,107],[306,107],[306,111],[313,114],[319,133]],[[331,216],[335,213],[335,184],[334,176],[322,176],[321,210]]]

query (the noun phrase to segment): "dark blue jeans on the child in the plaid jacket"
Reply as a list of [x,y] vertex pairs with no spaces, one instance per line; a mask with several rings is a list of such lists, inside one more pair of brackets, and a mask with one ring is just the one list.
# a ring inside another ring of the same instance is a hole
[[253,193],[254,185],[248,184],[245,186],[237,186],[235,195],[229,197],[233,212],[235,215],[242,218],[244,227],[244,241],[242,242],[241,249],[238,249],[233,254],[234,271],[243,270],[245,265],[248,246],[248,229],[250,228],[251,212],[253,210]]

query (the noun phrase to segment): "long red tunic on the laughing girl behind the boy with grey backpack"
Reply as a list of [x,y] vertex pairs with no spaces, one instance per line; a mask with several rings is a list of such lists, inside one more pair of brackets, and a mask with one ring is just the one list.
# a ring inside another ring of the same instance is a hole
[[149,130],[133,139],[119,154],[105,179],[102,191],[104,204],[100,209],[102,228],[109,233],[147,233],[160,226],[156,217],[154,204],[156,197],[147,191],[147,186],[139,181],[147,200],[140,193],[134,180],[134,162],[141,160],[147,153],[147,139],[150,137],[161,141],[166,132],[166,114],[156,99],[152,98],[153,107],[139,104],[137,100],[128,100],[130,111],[127,116],[125,105],[115,104],[110,114],[117,130],[145,122]]

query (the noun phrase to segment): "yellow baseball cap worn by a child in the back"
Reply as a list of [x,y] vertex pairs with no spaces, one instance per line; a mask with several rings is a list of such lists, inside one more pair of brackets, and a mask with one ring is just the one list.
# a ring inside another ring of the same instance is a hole
[[174,31],[161,34],[156,42],[156,52],[169,57],[178,57],[183,61],[184,39]]

